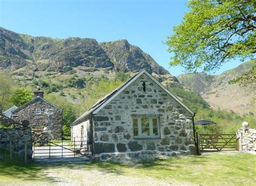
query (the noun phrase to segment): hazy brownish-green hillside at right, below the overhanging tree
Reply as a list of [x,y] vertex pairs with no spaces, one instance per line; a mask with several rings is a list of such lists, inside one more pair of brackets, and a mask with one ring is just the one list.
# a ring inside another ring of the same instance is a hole
[[254,112],[256,114],[256,91],[239,84],[228,82],[241,76],[255,65],[256,60],[242,63],[236,68],[224,71],[220,75],[205,73],[182,74],[178,80],[186,87],[197,92],[213,109],[233,110],[240,115]]

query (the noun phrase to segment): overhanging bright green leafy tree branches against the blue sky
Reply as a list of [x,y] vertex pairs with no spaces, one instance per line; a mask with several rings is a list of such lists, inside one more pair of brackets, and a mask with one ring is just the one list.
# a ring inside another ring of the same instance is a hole
[[245,0],[190,1],[190,12],[166,41],[174,54],[170,65],[212,71],[231,59],[253,58],[255,7],[254,1]]

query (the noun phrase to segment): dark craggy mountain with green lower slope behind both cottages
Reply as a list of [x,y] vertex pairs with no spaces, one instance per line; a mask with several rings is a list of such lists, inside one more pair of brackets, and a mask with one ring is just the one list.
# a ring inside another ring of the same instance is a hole
[[114,80],[120,71],[132,76],[146,69],[161,83],[183,88],[175,76],[127,40],[99,43],[89,38],[32,37],[0,27],[1,68],[9,70],[19,87],[40,85],[47,95],[60,95],[75,104],[93,85]]

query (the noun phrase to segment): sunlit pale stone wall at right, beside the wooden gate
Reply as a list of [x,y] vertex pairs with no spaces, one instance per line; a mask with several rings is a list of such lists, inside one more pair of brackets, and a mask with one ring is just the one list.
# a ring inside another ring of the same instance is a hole
[[256,153],[256,128],[239,128],[239,151]]

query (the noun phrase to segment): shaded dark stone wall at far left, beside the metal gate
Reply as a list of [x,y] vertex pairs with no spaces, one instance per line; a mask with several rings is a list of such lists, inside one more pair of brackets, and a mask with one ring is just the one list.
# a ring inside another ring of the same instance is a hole
[[24,158],[26,143],[28,160],[32,160],[32,133],[30,127],[0,128],[0,148],[10,149],[10,141],[12,152],[17,153],[21,158]]

